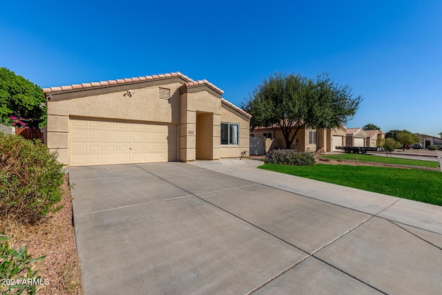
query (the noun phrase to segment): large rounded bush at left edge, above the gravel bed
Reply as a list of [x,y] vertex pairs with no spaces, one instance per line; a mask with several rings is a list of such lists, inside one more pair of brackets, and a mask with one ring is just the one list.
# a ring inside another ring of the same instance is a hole
[[0,214],[35,223],[61,207],[63,165],[41,142],[0,132]]

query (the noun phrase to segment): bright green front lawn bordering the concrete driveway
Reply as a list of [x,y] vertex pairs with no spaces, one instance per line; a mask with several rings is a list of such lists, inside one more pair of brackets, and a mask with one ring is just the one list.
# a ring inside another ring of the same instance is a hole
[[442,172],[378,166],[264,164],[260,169],[442,206]]

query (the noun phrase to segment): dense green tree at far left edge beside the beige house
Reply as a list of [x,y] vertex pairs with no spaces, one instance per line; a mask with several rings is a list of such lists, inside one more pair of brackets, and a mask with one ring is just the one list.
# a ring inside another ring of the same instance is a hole
[[[0,123],[12,126],[10,117],[23,117],[31,127],[46,125],[46,102],[41,88],[15,75],[8,68],[0,68]],[[23,121],[23,120],[22,120]]]

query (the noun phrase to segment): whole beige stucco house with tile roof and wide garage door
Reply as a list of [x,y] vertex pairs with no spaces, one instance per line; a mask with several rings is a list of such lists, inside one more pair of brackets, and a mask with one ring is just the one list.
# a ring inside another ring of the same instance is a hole
[[251,115],[181,73],[44,88],[47,144],[69,166],[236,158]]

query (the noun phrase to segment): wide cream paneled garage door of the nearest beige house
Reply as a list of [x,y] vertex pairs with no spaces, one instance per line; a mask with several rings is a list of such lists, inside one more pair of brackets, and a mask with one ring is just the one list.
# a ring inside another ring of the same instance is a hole
[[70,120],[70,166],[176,160],[175,124]]

